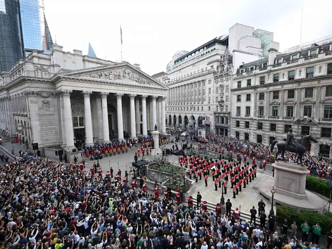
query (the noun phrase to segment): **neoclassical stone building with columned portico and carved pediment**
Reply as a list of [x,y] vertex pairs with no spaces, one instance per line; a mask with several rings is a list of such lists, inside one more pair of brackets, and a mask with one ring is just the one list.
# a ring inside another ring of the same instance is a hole
[[54,44],[50,54],[32,52],[2,72],[0,83],[2,137],[18,137],[27,148],[38,143],[46,156],[58,146],[76,155],[76,139],[90,145],[122,140],[124,132],[144,136],[155,124],[166,132],[168,87],[138,64],[63,52]]

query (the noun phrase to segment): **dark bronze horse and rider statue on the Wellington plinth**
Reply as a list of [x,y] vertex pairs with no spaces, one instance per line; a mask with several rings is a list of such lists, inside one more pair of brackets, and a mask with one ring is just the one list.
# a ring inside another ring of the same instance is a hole
[[[287,134],[286,141],[274,140],[271,143],[271,152],[273,151],[275,144],[277,144],[278,152],[276,154],[276,157],[278,157],[278,155],[281,154],[282,160],[284,161],[285,160],[284,154],[285,154],[285,151],[287,150],[289,152],[298,154],[296,163],[298,164],[298,160],[300,160],[300,164],[302,164],[302,157],[306,151],[306,145],[308,144],[309,141],[312,141],[314,143],[318,142],[311,135],[304,135],[298,141],[295,141],[294,135],[293,135],[293,130],[292,130],[292,128],[290,128],[288,131],[288,134]],[[276,160],[277,160],[277,158],[276,158]]]

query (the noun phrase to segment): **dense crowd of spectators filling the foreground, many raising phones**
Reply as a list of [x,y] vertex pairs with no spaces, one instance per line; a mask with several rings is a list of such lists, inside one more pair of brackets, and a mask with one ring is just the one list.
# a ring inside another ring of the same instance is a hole
[[[196,158],[189,161],[197,163]],[[231,163],[226,162],[226,169]],[[243,221],[238,209],[230,212],[229,201],[226,213],[219,204],[207,210],[205,201],[194,206],[189,198],[188,205],[183,204],[179,196],[171,198],[169,190],[159,196],[157,184],[153,195],[135,176],[128,183],[127,175],[123,180],[112,175],[34,156],[6,163],[0,172],[1,248],[319,248],[318,243],[310,246],[273,228],[266,230],[265,222]]]

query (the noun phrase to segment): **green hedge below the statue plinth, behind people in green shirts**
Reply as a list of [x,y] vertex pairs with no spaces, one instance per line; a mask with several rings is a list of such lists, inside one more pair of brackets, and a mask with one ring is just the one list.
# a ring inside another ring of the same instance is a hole
[[301,210],[301,212],[297,212],[296,209],[292,207],[287,206],[277,206],[277,212],[276,212],[277,222],[282,224],[283,220],[287,218],[288,223],[291,224],[293,221],[296,222],[297,228],[301,229],[301,224],[304,223],[304,221],[308,222],[308,225],[310,226],[310,229],[313,225],[316,223],[319,223],[319,225],[322,227],[322,233],[325,235],[330,229],[332,228],[332,215],[331,214],[320,214],[315,213],[311,211],[304,211]]

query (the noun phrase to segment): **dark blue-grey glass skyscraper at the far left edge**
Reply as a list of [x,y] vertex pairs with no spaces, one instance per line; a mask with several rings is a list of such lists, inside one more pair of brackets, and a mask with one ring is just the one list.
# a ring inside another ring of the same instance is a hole
[[0,0],[0,72],[24,57],[18,0]]

